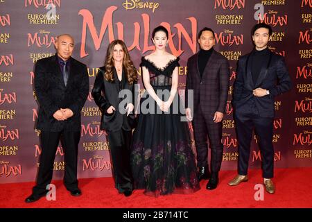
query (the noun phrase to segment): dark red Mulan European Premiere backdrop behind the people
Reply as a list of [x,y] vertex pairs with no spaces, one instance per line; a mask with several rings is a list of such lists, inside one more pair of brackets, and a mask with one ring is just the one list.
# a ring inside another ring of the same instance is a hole
[[[38,59],[53,56],[55,37],[62,33],[74,37],[73,58],[87,65],[91,92],[107,45],[124,40],[139,67],[141,56],[153,51],[150,35],[159,24],[169,31],[168,51],[181,59],[182,98],[187,59],[198,51],[198,31],[205,26],[214,29],[214,49],[227,57],[231,66],[222,169],[236,169],[237,140],[230,101],[236,62],[252,50],[250,31],[258,22],[272,26],[269,48],[284,56],[293,80],[291,92],[275,101],[275,167],[312,167],[312,0],[0,0],[0,183],[35,180],[41,150],[40,132],[34,127],[33,67]],[[81,114],[78,177],[111,176],[109,146],[99,128],[101,112],[91,94]],[[61,179],[61,144],[55,155],[53,178]],[[250,167],[259,168],[260,163],[254,137]]]

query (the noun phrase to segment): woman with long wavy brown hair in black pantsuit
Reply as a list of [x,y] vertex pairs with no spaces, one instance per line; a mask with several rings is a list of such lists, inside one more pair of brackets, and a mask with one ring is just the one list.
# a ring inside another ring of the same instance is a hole
[[107,48],[104,67],[96,75],[92,96],[102,111],[101,130],[107,133],[115,187],[125,196],[132,194],[130,143],[135,123],[135,83],[137,70],[128,49],[123,41],[114,40]]

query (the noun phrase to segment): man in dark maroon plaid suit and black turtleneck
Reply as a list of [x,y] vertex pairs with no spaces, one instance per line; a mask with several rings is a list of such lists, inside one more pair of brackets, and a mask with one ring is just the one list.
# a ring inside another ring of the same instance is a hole
[[[192,121],[197,149],[198,180],[209,179],[207,189],[218,185],[223,144],[222,119],[229,87],[229,62],[214,50],[214,31],[203,28],[198,34],[200,51],[187,61],[186,114]],[[188,90],[193,89],[193,110],[188,101]],[[208,147],[211,148],[211,173],[208,165]]]

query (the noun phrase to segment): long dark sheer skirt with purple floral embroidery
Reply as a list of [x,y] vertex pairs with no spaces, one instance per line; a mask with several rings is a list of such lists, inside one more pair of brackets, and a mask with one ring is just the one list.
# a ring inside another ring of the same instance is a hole
[[[141,104],[144,99],[141,99]],[[131,167],[135,189],[144,194],[190,194],[200,189],[191,137],[182,115],[139,114],[132,137]]]

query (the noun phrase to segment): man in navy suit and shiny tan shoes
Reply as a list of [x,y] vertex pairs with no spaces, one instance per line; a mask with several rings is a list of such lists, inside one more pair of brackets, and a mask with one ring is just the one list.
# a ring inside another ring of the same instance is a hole
[[[239,58],[234,83],[234,119],[239,142],[238,175],[230,186],[248,180],[248,160],[252,131],[259,137],[262,155],[263,184],[268,193],[275,192],[272,182],[274,168],[273,118],[275,96],[291,89],[291,78],[284,58],[268,49],[272,28],[257,24],[252,28],[255,48]],[[278,81],[277,81],[278,80]]]

